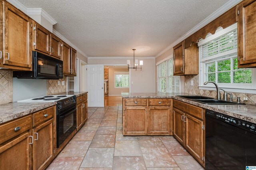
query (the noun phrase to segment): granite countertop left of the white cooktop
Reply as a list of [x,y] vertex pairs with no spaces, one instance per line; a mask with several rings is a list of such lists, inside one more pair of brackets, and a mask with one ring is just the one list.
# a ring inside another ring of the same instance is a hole
[[56,104],[57,102],[12,102],[0,105],[0,124]]

